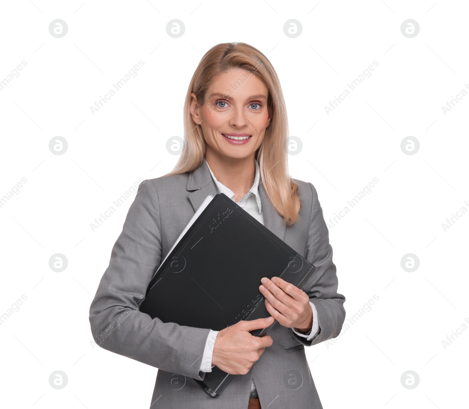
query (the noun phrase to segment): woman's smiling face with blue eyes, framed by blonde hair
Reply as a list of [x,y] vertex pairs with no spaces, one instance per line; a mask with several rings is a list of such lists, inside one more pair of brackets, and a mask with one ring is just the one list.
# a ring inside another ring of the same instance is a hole
[[219,75],[207,89],[202,106],[191,93],[190,112],[202,126],[207,152],[232,158],[254,155],[271,119],[267,97],[264,83],[242,69]]

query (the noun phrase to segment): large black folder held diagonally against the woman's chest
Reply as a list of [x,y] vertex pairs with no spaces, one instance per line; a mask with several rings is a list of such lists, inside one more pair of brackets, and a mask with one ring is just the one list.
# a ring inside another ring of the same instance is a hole
[[[140,311],[163,322],[220,331],[240,320],[270,316],[259,290],[262,277],[281,277],[301,289],[316,270],[218,193],[155,269]],[[264,336],[276,322],[250,334]],[[214,366],[203,381],[194,380],[215,397],[234,376],[242,375]]]

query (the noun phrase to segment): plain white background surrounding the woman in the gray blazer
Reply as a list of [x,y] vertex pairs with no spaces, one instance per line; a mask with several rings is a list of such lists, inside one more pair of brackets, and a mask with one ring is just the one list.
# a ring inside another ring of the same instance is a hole
[[[3,406],[149,406],[157,368],[93,345],[88,321],[134,196],[98,229],[90,223],[139,178],[172,170],[166,141],[183,136],[189,80],[209,48],[229,41],[275,67],[290,135],[303,142],[290,174],[316,187],[326,222],[379,179],[328,222],[349,328],[306,349],[324,408],[467,406],[469,330],[442,341],[469,327],[469,214],[442,223],[469,209],[469,96],[446,115],[441,107],[469,86],[468,12],[465,1],[3,2],[0,80],[27,62],[0,91],[0,197],[27,179],[0,208],[0,314],[27,297],[0,326]],[[62,38],[49,33],[54,19],[68,24]],[[172,19],[182,37],[166,33]],[[300,36],[285,35],[289,19]],[[401,33],[407,19],[420,25],[414,38]],[[327,114],[373,60],[372,75]],[[57,136],[68,141],[59,156],[49,150]],[[420,142],[415,155],[401,150],[408,136]],[[61,273],[49,268],[54,253],[68,259]],[[414,272],[401,268],[406,253],[420,260]],[[60,390],[49,385],[57,370],[68,376]],[[420,377],[411,390],[401,385],[409,370]]]

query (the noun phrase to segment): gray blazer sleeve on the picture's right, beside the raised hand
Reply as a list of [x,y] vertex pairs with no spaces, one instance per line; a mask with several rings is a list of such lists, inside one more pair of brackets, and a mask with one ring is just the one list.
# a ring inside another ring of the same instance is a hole
[[332,246],[329,244],[329,231],[325,224],[321,204],[315,187],[308,183],[312,192],[310,230],[305,246],[305,258],[318,270],[303,287],[310,297],[310,302],[317,310],[319,331],[310,341],[293,333],[305,346],[335,338],[340,334],[345,320],[345,297],[337,292],[338,279],[332,260]]

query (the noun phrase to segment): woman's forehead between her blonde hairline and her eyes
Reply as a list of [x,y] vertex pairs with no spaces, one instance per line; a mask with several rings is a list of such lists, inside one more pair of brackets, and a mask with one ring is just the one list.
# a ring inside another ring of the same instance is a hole
[[220,74],[207,89],[207,98],[226,98],[229,100],[267,98],[268,90],[256,75],[235,69]]

